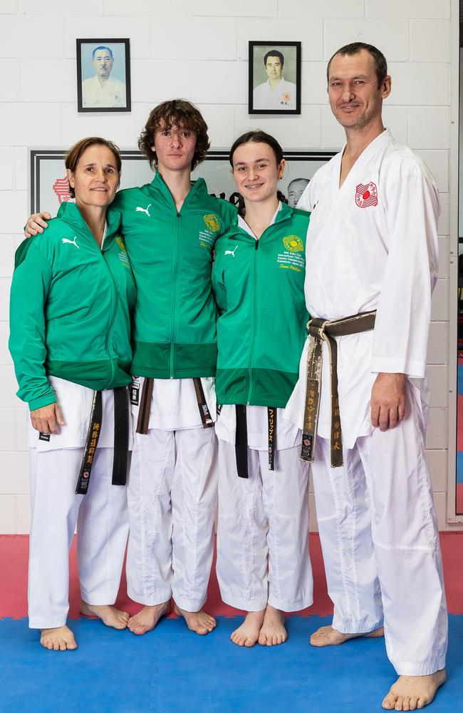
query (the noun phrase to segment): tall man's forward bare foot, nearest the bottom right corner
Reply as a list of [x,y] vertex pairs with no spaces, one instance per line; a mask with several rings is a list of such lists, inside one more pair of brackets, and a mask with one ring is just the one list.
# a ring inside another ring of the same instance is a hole
[[424,708],[435,697],[435,692],[444,681],[444,669],[430,676],[399,676],[383,700],[383,708],[388,711],[414,711]]

